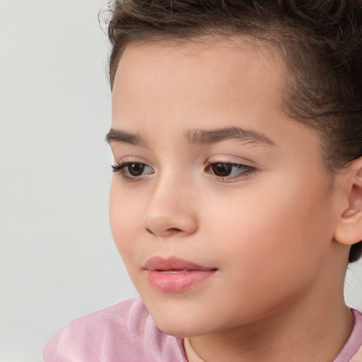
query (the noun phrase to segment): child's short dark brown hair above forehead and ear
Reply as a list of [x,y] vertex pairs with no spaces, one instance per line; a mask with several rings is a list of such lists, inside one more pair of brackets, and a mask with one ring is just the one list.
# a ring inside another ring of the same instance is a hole
[[[360,0],[115,0],[110,11],[111,88],[130,42],[256,37],[284,57],[285,110],[321,134],[327,170],[362,156]],[[361,254],[352,245],[349,262]]]

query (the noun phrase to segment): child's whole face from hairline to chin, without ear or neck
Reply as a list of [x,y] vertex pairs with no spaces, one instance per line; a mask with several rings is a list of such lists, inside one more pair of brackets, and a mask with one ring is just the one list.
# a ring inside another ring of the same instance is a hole
[[255,322],[327,282],[345,205],[317,134],[282,112],[282,64],[236,39],[129,45],[119,63],[112,129],[127,134],[110,144],[131,164],[113,177],[110,223],[168,334]]

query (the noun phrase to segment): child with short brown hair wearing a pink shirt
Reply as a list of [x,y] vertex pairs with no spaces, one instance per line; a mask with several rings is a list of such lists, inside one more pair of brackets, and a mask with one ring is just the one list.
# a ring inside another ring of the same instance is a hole
[[124,0],[110,223],[140,297],[45,362],[362,361],[359,0]]

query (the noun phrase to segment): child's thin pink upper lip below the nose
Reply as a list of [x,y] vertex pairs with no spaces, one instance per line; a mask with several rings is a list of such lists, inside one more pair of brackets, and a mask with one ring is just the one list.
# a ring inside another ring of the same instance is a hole
[[144,264],[146,270],[214,270],[212,267],[202,267],[201,265],[189,262],[179,257],[150,257]]

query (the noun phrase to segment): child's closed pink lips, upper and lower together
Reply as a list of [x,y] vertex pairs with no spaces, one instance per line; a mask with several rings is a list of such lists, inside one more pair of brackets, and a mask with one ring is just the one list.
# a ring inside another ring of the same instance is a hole
[[151,286],[165,293],[186,291],[209,279],[216,272],[216,268],[202,267],[177,257],[151,257],[144,269]]

